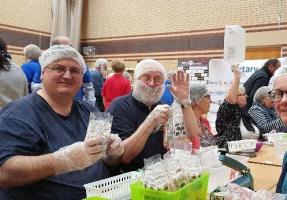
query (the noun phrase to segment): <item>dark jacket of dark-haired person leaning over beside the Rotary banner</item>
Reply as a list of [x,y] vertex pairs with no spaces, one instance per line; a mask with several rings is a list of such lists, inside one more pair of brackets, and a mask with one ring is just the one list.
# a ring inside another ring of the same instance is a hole
[[244,88],[246,91],[247,97],[247,109],[252,106],[253,97],[258,88],[262,86],[268,86],[269,80],[271,79],[272,74],[267,68],[260,68],[254,74],[252,74],[247,81],[244,83]]

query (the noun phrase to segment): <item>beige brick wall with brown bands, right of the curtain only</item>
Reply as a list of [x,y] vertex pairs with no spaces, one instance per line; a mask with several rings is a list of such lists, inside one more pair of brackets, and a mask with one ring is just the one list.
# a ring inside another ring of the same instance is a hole
[[226,24],[246,29],[247,47],[286,49],[287,1],[280,9],[278,0],[86,0],[82,45],[96,47],[85,57],[90,64],[121,58],[133,67],[152,57],[172,70],[177,59],[222,58]]

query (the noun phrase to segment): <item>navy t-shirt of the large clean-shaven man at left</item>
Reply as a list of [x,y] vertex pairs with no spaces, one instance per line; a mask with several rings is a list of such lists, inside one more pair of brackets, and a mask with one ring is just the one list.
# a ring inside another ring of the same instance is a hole
[[[16,155],[38,156],[53,153],[61,147],[83,141],[93,107],[74,100],[69,116],[54,112],[38,94],[16,100],[0,111],[0,165]],[[74,171],[12,188],[0,188],[13,200],[83,199],[84,184],[107,178],[102,160],[81,171]],[[7,198],[7,197],[6,197]]]

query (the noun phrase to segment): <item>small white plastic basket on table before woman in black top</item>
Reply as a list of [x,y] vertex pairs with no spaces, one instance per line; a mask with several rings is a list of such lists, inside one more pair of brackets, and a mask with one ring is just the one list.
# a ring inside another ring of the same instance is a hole
[[255,150],[257,140],[237,140],[227,142],[229,152],[239,152],[239,151],[248,151]]

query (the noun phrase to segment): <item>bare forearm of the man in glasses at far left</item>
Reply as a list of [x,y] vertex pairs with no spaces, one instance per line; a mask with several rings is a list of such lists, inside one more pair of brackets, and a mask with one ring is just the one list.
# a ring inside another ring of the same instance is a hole
[[0,167],[0,187],[26,185],[56,174],[53,154],[14,156]]

